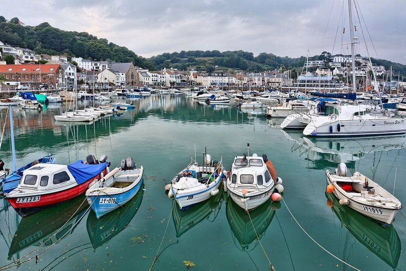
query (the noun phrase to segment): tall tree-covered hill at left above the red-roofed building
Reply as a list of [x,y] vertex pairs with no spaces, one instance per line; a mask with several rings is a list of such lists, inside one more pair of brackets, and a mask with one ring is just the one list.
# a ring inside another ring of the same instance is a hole
[[18,18],[6,21],[0,16],[0,40],[13,47],[28,48],[37,54],[66,55],[91,60],[133,62],[134,65],[153,69],[151,62],[124,46],[87,32],[64,31],[43,22],[37,26],[22,26]]

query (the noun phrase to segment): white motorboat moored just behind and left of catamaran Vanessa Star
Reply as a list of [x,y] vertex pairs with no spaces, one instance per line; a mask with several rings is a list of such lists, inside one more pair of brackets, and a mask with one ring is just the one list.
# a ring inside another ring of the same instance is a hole
[[266,107],[266,115],[271,118],[286,118],[291,114],[296,113],[308,113],[310,110],[310,105],[313,104],[312,101],[302,101],[302,100],[290,100],[284,102],[282,106],[268,106]]

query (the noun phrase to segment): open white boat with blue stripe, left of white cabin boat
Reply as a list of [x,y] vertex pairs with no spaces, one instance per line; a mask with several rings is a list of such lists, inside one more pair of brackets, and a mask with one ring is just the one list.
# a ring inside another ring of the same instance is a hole
[[190,164],[180,171],[165,189],[170,189],[168,196],[174,195],[181,210],[204,201],[219,193],[223,175],[223,163],[212,160],[206,151],[203,153],[204,163],[200,167],[192,159]]

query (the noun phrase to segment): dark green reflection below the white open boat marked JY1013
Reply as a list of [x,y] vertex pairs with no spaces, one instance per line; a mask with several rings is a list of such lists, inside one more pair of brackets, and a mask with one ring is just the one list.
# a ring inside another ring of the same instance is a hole
[[348,206],[340,205],[332,193],[325,193],[325,196],[327,205],[331,206],[342,225],[355,239],[392,268],[398,266],[401,240],[393,225],[384,229]]

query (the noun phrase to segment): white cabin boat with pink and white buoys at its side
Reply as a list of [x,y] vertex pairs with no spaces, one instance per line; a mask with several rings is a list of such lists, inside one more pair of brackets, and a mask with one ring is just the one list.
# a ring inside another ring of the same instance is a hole
[[236,156],[227,180],[225,190],[245,211],[258,207],[270,198],[275,189],[276,171],[266,155]]

